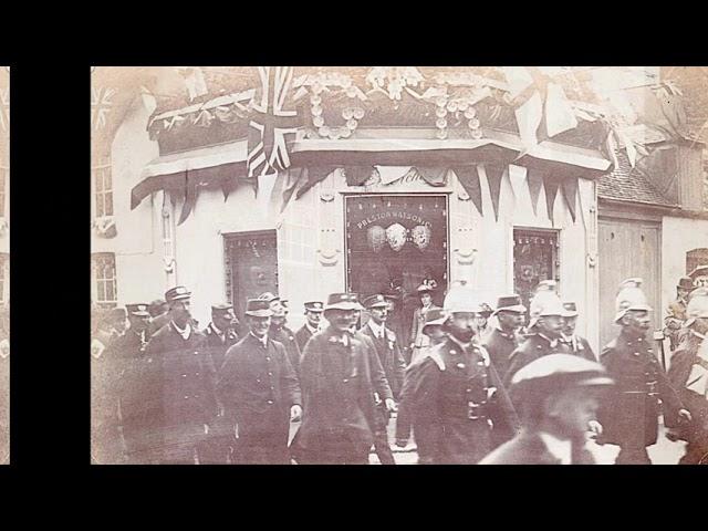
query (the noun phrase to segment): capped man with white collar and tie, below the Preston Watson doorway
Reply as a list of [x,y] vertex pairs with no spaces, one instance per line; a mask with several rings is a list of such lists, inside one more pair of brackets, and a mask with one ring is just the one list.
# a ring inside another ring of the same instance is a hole
[[[406,368],[406,361],[403,357],[396,334],[386,327],[388,319],[388,301],[383,294],[375,294],[364,300],[364,306],[371,313],[371,319],[361,329],[362,335],[371,339],[378,356],[378,361],[384,368],[386,381],[391,386],[393,398],[398,399],[398,394],[403,387],[403,375]],[[395,465],[391,446],[388,444],[388,419],[392,407],[379,398],[377,400],[378,423],[376,429],[376,440],[374,447],[382,465]],[[395,407],[393,408],[395,409]]]

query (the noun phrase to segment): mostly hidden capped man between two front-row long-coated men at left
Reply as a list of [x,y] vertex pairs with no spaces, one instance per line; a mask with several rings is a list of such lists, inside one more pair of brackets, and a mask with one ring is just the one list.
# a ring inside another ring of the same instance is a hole
[[[217,372],[223,364],[226,352],[239,341],[236,333],[238,324],[232,304],[221,302],[211,305],[211,322],[201,333],[207,339],[207,350]],[[232,426],[225,417],[221,404],[219,406],[219,416],[199,449],[199,461],[206,465],[228,464],[236,444]]]

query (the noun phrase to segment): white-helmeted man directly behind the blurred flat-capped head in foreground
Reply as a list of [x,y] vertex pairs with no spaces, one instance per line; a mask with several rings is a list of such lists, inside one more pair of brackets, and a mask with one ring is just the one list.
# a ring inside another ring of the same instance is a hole
[[549,354],[569,354],[570,348],[561,342],[565,321],[565,309],[553,291],[540,291],[531,301],[529,335],[509,357],[509,368],[504,384],[511,383],[513,375],[533,360]]

